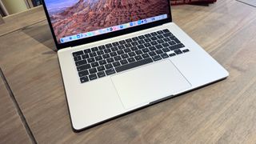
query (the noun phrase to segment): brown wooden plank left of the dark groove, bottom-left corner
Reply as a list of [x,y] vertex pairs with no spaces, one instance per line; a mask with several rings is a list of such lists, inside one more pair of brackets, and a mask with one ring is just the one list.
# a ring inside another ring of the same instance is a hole
[[1,77],[0,102],[0,143],[31,143]]

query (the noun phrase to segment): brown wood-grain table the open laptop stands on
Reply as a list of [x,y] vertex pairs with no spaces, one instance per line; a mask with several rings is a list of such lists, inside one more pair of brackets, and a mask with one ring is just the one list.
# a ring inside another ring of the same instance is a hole
[[38,22],[27,19],[31,25],[15,24],[13,31],[0,26],[0,67],[6,82],[0,84],[1,108],[18,113],[1,109],[0,143],[255,143],[256,8],[220,0],[210,6],[174,6],[172,12],[174,22],[230,77],[80,133],[71,130],[42,9]]

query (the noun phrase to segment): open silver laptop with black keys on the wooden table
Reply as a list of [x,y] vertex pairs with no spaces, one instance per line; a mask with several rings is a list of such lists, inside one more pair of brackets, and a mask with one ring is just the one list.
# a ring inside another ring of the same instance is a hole
[[75,132],[226,78],[169,0],[43,0]]

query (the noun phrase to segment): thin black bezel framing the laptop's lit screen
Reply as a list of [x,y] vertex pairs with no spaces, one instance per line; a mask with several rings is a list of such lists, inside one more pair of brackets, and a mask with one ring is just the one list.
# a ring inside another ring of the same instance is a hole
[[113,31],[113,32],[110,32],[110,33],[107,33],[107,34],[99,34],[99,35],[96,35],[96,36],[93,36],[93,37],[90,37],[90,38],[82,38],[82,39],[78,39],[78,40],[75,40],[75,41],[72,41],[72,42],[65,42],[65,43],[58,43],[58,41],[57,41],[57,38],[54,34],[54,28],[53,28],[53,26],[50,22],[50,16],[49,16],[48,11],[46,9],[46,3],[44,2],[44,0],[42,0],[42,6],[43,6],[44,11],[46,13],[46,18],[47,18],[47,21],[48,21],[49,26],[50,26],[50,31],[51,31],[52,36],[54,38],[55,46],[58,50],[60,50],[60,49],[66,48],[66,47],[79,46],[79,45],[83,45],[83,44],[90,43],[90,42],[100,41],[100,40],[106,39],[106,38],[113,38],[113,37],[117,37],[119,35],[129,34],[129,33],[133,33],[133,32],[138,31],[138,30],[145,30],[145,29],[149,29],[149,28],[154,27],[154,26],[160,26],[162,24],[172,22],[172,16],[171,16],[171,10],[170,10],[170,1],[169,0],[166,0],[166,1],[168,1],[170,18],[166,18],[166,19],[156,21],[156,22],[150,22],[150,23],[147,23],[147,24],[144,24],[144,25],[141,25],[141,26],[134,26],[134,27],[130,27],[130,28],[127,28],[127,29],[124,29],[124,30],[117,30],[117,31]]

